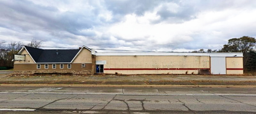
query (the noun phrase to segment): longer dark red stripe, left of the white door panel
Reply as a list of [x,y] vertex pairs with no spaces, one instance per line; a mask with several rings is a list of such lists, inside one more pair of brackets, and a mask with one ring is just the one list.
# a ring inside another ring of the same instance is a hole
[[104,68],[104,70],[198,70],[210,68]]

